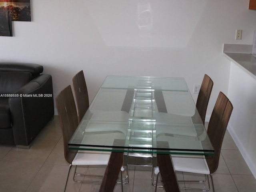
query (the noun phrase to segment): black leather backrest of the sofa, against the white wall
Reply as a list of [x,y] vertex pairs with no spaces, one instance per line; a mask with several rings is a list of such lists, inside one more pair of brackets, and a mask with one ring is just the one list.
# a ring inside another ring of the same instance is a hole
[[13,94],[42,71],[38,64],[0,62],[0,94]]

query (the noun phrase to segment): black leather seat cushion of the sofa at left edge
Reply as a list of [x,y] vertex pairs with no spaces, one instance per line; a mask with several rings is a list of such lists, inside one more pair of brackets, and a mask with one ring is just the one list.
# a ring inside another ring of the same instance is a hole
[[8,98],[0,98],[0,128],[10,128],[11,112]]

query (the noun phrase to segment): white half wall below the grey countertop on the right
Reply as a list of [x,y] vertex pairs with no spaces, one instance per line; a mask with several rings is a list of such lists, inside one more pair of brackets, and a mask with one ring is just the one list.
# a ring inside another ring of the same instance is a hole
[[228,130],[256,178],[256,77],[231,62],[228,98],[234,109]]

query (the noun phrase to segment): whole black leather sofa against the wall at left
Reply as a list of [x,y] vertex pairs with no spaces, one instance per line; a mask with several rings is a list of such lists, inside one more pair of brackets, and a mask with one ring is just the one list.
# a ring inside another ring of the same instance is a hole
[[43,66],[0,62],[0,143],[29,148],[54,116],[52,76]]

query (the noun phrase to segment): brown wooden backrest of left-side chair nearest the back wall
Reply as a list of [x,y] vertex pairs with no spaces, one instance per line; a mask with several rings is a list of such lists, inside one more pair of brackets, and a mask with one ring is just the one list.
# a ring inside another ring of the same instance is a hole
[[83,118],[86,110],[89,108],[89,98],[83,71],[78,72],[73,77],[74,92],[78,108],[78,121]]

